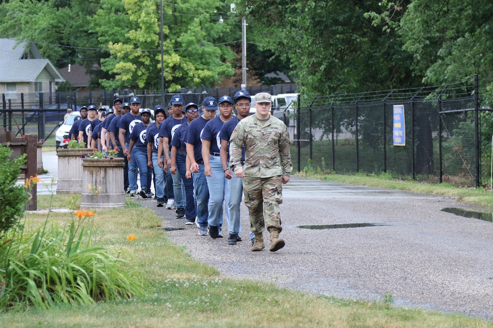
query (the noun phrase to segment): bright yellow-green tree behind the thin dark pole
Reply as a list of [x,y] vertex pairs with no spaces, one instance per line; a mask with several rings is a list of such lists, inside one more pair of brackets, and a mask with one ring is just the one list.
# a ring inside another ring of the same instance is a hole
[[[228,62],[234,53],[221,43],[227,24],[219,24],[210,8],[220,1],[189,1],[188,5],[164,7],[164,77],[166,88],[215,85],[222,76],[231,76]],[[189,14],[190,7],[203,8]],[[110,56],[102,69],[114,78],[103,79],[105,88],[136,86],[160,89],[160,8],[157,1],[123,0],[107,2],[91,19],[101,47]],[[119,24],[117,24],[119,22]],[[127,22],[126,24],[121,24]]]

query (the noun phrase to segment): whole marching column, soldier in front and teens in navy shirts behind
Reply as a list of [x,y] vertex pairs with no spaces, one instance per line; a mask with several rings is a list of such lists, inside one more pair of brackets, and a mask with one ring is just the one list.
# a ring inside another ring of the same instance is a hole
[[[185,104],[176,94],[168,104],[140,110],[139,97],[115,99],[105,111],[82,107],[70,139],[78,137],[88,148],[118,149],[125,159],[124,190],[130,196],[153,198],[157,207],[176,209],[176,218],[196,225],[199,236],[242,241],[240,205],[248,209],[251,251],[265,248],[263,232],[270,235],[269,250],[285,245],[282,232],[282,184],[292,171],[291,140],[285,124],[271,115],[272,96],[255,95],[255,114],[249,116],[251,97],[239,90],[233,98],[207,97],[201,105]],[[236,109],[236,116],[233,110]],[[217,113],[219,111],[219,113]],[[99,112],[99,113],[98,113]],[[140,177],[140,191],[137,175]],[[155,195],[151,192],[154,185]]]

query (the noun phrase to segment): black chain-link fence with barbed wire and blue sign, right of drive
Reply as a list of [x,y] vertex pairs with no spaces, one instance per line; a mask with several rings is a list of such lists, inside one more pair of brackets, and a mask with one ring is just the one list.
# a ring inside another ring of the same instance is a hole
[[475,76],[443,86],[302,97],[282,115],[294,168],[490,184],[492,109],[480,106],[478,89]]

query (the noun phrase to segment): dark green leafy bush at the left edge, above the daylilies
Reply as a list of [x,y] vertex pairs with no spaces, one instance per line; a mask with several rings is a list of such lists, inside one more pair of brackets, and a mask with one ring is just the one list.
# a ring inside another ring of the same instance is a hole
[[9,160],[12,151],[0,145],[0,236],[14,227],[24,214],[28,193],[15,182],[26,162],[26,155]]

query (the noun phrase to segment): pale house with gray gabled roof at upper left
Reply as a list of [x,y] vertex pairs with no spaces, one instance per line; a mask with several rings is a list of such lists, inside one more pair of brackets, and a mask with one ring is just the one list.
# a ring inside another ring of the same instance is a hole
[[53,99],[57,82],[64,78],[50,60],[44,59],[35,43],[16,39],[0,39],[0,93],[12,102],[39,104],[39,92],[44,99]]

